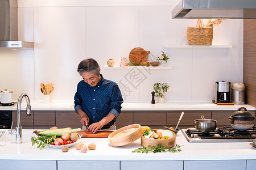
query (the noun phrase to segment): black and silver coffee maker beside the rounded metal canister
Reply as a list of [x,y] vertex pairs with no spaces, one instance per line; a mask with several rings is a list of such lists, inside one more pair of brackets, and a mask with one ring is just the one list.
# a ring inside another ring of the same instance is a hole
[[215,103],[231,103],[230,82],[216,82]]

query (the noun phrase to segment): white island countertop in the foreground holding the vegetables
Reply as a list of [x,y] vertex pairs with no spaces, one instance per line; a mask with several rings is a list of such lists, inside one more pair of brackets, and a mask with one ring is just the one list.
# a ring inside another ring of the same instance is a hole
[[[0,130],[4,131],[4,130]],[[189,143],[179,131],[176,143],[181,146],[181,152],[132,154],[131,151],[141,147],[141,139],[126,146],[112,147],[108,138],[81,138],[79,142],[88,146],[96,143],[96,150],[86,153],[76,150],[75,146],[68,152],[46,146],[42,150],[31,145],[33,130],[23,130],[23,143],[15,143],[15,135],[2,138],[12,138],[12,142],[2,142],[0,138],[0,159],[9,160],[245,160],[256,159],[256,148],[250,142],[221,143]]]

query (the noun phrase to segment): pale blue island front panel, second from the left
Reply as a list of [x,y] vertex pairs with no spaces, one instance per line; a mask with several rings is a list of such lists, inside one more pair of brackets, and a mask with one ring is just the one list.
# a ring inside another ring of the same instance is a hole
[[120,162],[118,160],[58,160],[57,169],[119,170]]

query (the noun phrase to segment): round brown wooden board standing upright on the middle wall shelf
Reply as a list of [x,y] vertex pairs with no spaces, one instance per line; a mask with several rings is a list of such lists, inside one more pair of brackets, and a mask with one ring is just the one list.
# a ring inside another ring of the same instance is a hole
[[150,51],[146,51],[141,47],[134,48],[129,54],[129,60],[134,63],[145,63],[149,53]]

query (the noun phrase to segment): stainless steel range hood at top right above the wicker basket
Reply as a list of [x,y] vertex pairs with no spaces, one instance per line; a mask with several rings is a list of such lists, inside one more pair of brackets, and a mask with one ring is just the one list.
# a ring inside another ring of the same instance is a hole
[[255,0],[182,0],[172,18],[256,18]]

